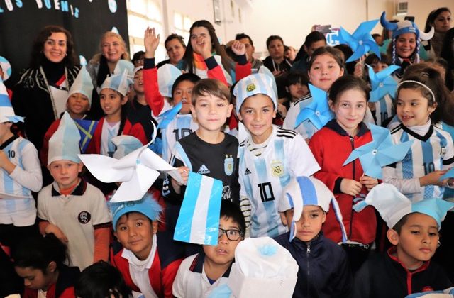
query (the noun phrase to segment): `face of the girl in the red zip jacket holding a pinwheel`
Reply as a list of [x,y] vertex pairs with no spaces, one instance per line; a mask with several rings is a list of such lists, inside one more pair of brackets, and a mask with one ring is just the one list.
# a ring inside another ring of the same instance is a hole
[[336,121],[350,136],[355,136],[358,125],[364,119],[367,101],[359,89],[348,89],[338,95],[336,103],[329,101],[331,110],[336,114]]

